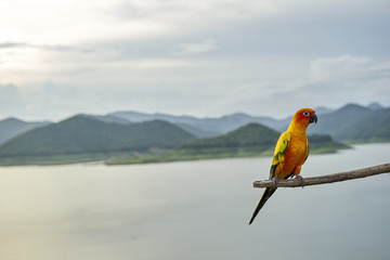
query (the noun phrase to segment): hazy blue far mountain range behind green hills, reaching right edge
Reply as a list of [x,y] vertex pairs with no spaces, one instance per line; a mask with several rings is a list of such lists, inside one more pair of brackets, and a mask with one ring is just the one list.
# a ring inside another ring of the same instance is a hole
[[[347,104],[338,109],[320,106],[315,109],[318,114],[318,123],[309,128],[308,133],[330,134],[337,141],[348,142],[390,141],[387,134],[389,132],[387,129],[389,129],[390,125],[388,119],[389,108],[385,108],[378,103],[372,103],[367,106]],[[167,120],[182,127],[197,138],[212,138],[225,134],[251,122],[260,123],[282,132],[287,129],[292,114],[285,119],[250,116],[244,113],[217,118],[196,118],[135,112],[116,112],[107,116],[129,121]]]

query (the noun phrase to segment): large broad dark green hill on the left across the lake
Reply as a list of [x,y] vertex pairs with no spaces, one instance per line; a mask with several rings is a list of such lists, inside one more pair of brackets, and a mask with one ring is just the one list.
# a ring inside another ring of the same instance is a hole
[[173,148],[195,136],[161,120],[113,123],[78,115],[36,128],[0,146],[0,156],[52,156]]

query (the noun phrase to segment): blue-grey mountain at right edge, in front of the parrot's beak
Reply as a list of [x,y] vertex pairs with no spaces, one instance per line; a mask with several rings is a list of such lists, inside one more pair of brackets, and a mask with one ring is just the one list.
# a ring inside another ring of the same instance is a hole
[[348,142],[390,141],[390,108],[370,107],[348,104],[318,117],[318,123],[308,132],[326,133]]

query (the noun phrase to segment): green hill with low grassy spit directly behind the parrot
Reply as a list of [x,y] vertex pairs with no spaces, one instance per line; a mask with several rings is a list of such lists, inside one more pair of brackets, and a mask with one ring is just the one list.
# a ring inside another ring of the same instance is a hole
[[[227,157],[272,156],[280,132],[259,123],[249,123],[216,138],[194,140],[178,148],[160,154],[140,154],[110,158],[107,164],[144,164],[176,160],[194,160]],[[335,153],[349,148],[334,142],[330,135],[314,134],[309,138],[310,153]]]

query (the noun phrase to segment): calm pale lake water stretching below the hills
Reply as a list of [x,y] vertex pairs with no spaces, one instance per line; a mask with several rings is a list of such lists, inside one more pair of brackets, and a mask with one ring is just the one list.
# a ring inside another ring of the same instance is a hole
[[[302,176],[390,161],[390,144],[312,155]],[[278,188],[271,158],[0,168],[0,259],[390,259],[390,174]]]

